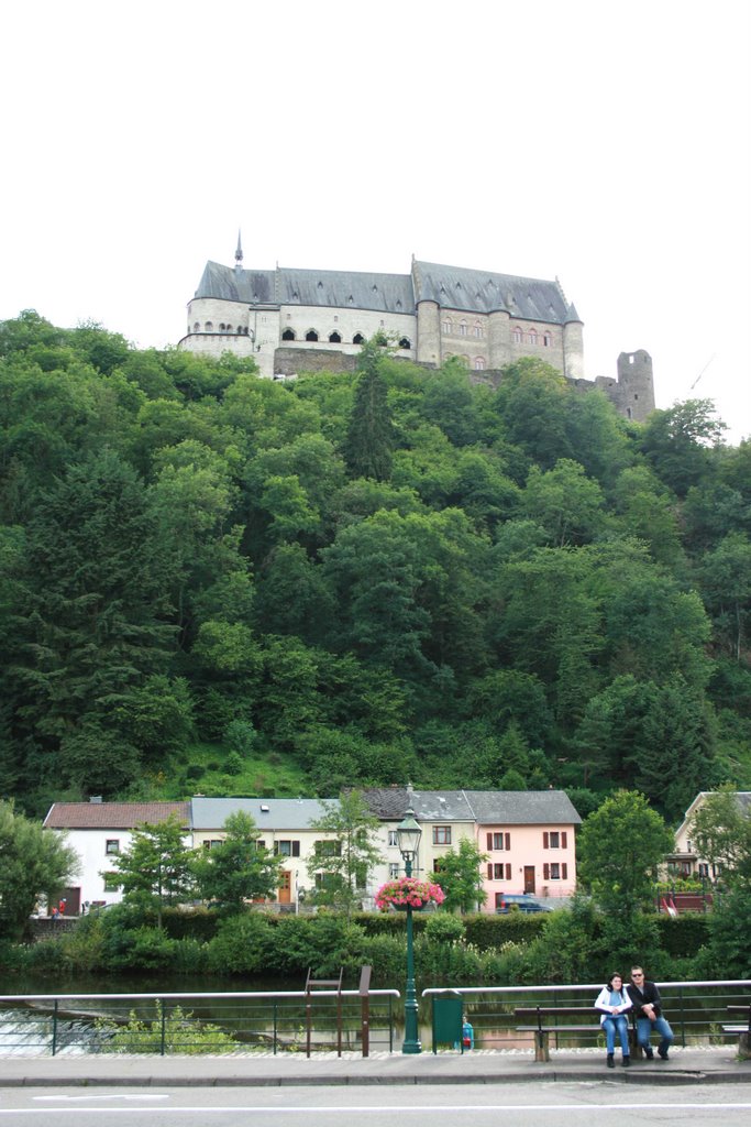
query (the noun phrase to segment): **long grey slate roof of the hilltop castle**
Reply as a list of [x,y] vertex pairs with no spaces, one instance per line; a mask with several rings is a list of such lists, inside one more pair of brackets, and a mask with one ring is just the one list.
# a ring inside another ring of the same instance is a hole
[[206,264],[196,298],[243,304],[311,305],[414,314],[421,301],[466,313],[506,310],[511,317],[565,325],[579,320],[557,281],[442,266],[414,260],[411,274],[307,270],[277,267],[247,270]]

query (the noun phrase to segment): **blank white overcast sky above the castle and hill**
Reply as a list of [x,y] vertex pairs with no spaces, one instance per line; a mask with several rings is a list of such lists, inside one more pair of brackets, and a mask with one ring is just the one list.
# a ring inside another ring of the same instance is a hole
[[37,0],[0,35],[0,319],[175,344],[238,228],[249,268],[557,275],[590,379],[646,348],[658,406],[751,436],[748,0]]

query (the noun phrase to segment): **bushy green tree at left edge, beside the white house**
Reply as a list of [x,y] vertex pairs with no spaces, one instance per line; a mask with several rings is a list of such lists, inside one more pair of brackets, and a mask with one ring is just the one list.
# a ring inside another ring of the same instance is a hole
[[78,868],[78,854],[62,834],[0,800],[0,937],[20,939],[37,899],[56,896]]

